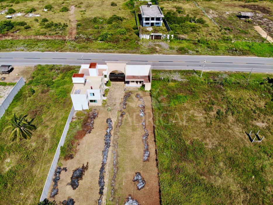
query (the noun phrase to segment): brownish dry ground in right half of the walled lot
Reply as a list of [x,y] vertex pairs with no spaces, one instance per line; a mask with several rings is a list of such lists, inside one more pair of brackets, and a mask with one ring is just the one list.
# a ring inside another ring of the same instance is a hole
[[[135,97],[136,93],[143,96],[146,105],[146,117],[144,119],[149,131],[150,158],[148,162],[143,162],[142,135],[144,130],[141,124],[143,118],[139,116],[140,101]],[[126,114],[118,133],[117,192],[115,200],[113,202],[107,200],[107,204],[124,204],[129,194],[140,204],[160,204],[150,94],[144,91],[133,91],[124,111]],[[145,187],[141,190],[137,190],[136,184],[138,182],[132,181],[135,172],[140,172],[146,181]],[[110,189],[111,187],[108,187],[108,190]]]

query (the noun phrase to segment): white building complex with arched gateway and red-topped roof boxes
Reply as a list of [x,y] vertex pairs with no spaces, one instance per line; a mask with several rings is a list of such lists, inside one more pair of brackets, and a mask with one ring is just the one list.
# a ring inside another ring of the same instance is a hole
[[151,65],[127,65],[107,62],[82,64],[79,73],[72,76],[73,88],[70,93],[75,110],[87,110],[91,105],[102,105],[106,97],[107,81],[124,82],[125,87],[151,89]]

